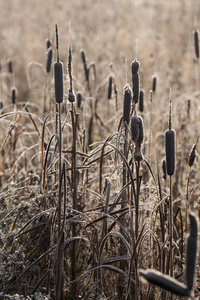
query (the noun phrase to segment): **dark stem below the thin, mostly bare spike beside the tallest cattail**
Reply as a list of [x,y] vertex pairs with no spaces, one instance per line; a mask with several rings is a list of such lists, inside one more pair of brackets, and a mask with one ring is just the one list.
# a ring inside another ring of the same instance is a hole
[[[77,210],[77,178],[76,178],[76,129],[78,122],[78,114],[76,114],[76,119],[74,119],[74,109],[72,103],[72,109],[70,110],[71,118],[72,118],[72,132],[73,132],[73,144],[72,144],[72,184],[73,184],[73,209]],[[72,237],[76,236],[76,225],[72,225]],[[72,280],[76,279],[76,240],[72,243],[72,253],[71,253],[71,261],[72,261]],[[76,299],[76,282],[72,284],[72,299]]]

